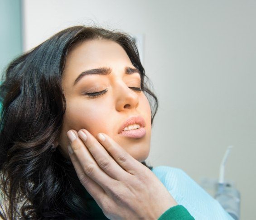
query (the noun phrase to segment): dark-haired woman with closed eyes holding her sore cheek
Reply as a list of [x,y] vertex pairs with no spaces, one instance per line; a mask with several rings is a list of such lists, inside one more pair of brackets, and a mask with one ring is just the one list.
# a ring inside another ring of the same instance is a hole
[[193,219],[164,168],[145,164],[157,110],[146,79],[132,38],[95,27],[15,59],[0,87],[2,218]]

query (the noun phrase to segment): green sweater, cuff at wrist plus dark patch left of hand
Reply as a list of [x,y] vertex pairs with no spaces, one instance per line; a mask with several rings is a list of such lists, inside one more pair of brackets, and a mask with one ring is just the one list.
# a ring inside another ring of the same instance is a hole
[[[97,202],[86,191],[86,198],[88,201],[88,210],[90,210],[90,219],[105,220],[108,219]],[[189,214],[188,210],[184,206],[177,205],[166,210],[158,220],[194,220],[193,216]]]

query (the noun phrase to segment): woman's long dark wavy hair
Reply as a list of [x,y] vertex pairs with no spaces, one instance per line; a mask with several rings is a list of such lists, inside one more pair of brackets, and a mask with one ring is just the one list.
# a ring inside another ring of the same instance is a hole
[[53,151],[52,145],[60,135],[66,109],[61,83],[66,57],[74,45],[92,39],[108,39],[120,44],[140,70],[141,88],[150,102],[153,123],[158,101],[145,76],[135,42],[126,33],[96,26],[74,26],[17,57],[7,67],[0,85],[3,197],[0,216],[3,219],[86,219],[90,216],[84,187],[71,161],[59,148]]

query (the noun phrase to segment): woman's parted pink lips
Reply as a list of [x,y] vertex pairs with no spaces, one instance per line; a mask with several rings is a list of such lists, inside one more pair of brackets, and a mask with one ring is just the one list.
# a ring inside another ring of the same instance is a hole
[[[139,124],[140,128],[139,129],[133,129],[133,130],[127,130],[127,131],[123,131],[123,129],[131,124]],[[146,134],[146,130],[145,130],[145,120],[142,116],[131,116],[130,118],[128,118],[124,124],[122,124],[122,126],[120,127],[120,129],[118,130],[118,134],[122,134],[126,137],[129,138],[142,138],[145,136]]]

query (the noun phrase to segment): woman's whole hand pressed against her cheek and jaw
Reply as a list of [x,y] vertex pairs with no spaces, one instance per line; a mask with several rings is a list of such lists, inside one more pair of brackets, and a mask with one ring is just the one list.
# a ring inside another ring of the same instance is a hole
[[178,205],[149,168],[106,134],[97,140],[82,129],[68,131],[68,137],[77,176],[107,218],[158,219]]

